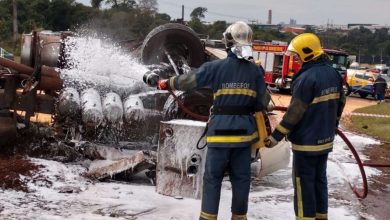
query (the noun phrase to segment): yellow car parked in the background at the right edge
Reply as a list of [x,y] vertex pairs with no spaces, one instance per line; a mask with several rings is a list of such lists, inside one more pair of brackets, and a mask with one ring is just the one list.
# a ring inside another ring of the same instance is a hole
[[[366,98],[368,95],[375,97],[374,82],[379,73],[367,72],[364,70],[349,70],[347,72],[346,95],[351,93],[359,94],[360,97]],[[390,77],[381,74],[387,82],[385,97],[390,97]]]

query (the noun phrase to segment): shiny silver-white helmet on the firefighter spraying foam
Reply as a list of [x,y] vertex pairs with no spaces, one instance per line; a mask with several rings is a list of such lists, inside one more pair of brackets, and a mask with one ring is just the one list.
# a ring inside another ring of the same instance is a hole
[[252,45],[252,29],[243,21],[237,21],[231,24],[223,33],[223,41],[226,48],[234,45]]

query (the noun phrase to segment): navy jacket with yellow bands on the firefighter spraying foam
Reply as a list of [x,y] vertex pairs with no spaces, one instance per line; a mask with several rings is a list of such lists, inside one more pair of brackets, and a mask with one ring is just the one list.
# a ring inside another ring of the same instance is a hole
[[[266,108],[270,98],[264,72],[254,63],[238,59],[230,51],[227,58],[204,63],[196,74],[172,77],[167,84],[172,90],[210,88],[214,94],[214,107],[245,107],[257,112]],[[208,147],[244,147],[257,140],[252,114],[210,115],[206,133]]]

